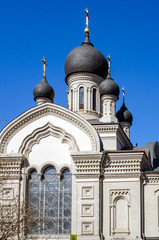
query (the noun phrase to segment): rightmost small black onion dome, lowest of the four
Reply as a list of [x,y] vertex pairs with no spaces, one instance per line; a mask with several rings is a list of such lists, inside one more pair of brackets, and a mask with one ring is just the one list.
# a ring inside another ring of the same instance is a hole
[[127,107],[125,106],[125,103],[123,103],[122,107],[116,113],[116,117],[118,118],[119,122],[128,122],[132,125],[133,116],[132,116],[131,112],[127,109]]

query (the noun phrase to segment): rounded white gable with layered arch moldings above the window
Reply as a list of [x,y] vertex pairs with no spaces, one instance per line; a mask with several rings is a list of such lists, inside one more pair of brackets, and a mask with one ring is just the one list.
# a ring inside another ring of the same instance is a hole
[[29,154],[41,139],[52,136],[70,151],[100,151],[94,128],[81,116],[56,104],[45,103],[29,109],[1,132],[1,153]]

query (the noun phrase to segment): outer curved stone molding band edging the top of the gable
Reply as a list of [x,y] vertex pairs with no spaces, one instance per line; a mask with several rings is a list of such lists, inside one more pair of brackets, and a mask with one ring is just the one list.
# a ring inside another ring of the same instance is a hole
[[66,121],[74,124],[82,131],[84,131],[87,136],[89,136],[92,144],[92,151],[100,151],[100,140],[97,132],[84,118],[79,116],[72,111],[52,103],[45,103],[39,106],[33,107],[21,114],[11,123],[9,123],[1,132],[1,148],[0,152],[5,153],[7,149],[7,144],[9,140],[23,127],[27,126],[30,122],[35,121],[43,116],[54,115],[65,119]]

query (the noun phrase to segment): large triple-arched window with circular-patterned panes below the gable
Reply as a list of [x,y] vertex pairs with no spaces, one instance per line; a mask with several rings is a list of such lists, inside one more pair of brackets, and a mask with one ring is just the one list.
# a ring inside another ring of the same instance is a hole
[[36,209],[37,222],[40,223],[33,224],[31,233],[71,233],[71,189],[69,169],[65,169],[59,178],[54,167],[47,167],[41,180],[36,171],[31,172],[28,204]]

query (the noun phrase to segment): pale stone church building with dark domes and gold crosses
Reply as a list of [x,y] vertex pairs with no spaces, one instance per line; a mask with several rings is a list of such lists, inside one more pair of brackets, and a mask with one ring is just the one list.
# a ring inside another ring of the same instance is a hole
[[[65,62],[68,108],[44,76],[37,106],[0,133],[1,206],[18,196],[47,219],[37,239],[159,239],[159,146],[133,147],[133,117],[104,55],[89,39]],[[34,230],[34,228],[33,228]],[[25,234],[25,233],[24,233]],[[9,239],[9,238],[8,238]],[[23,237],[20,238],[24,239]]]

